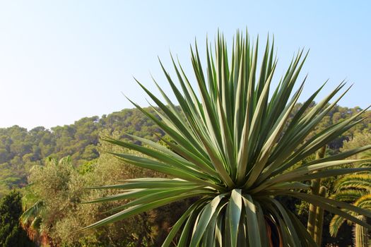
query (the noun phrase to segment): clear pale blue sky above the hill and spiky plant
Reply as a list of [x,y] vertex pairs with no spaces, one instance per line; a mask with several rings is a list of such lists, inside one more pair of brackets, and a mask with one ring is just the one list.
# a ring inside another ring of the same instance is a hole
[[[300,47],[304,96],[329,78],[355,83],[341,101],[371,104],[370,1],[0,1],[0,127],[28,129],[73,123],[146,96],[151,74],[168,89],[157,56],[169,51],[191,73],[189,44],[203,49],[218,28],[229,43],[237,29],[275,36],[279,76]],[[323,95],[322,95],[323,96]]]

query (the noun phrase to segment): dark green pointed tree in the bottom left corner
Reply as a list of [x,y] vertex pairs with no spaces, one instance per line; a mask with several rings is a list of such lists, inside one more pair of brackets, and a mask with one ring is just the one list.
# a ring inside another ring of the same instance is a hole
[[11,191],[0,201],[0,246],[33,246],[26,232],[20,227],[22,214],[20,193]]

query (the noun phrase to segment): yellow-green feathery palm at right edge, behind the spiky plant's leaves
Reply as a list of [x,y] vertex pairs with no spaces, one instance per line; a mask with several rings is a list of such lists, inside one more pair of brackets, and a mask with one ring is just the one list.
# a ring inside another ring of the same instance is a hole
[[[342,202],[352,203],[356,207],[361,207],[364,210],[371,210],[371,174],[353,174],[344,176],[338,179],[336,182],[336,193],[331,196],[334,200],[339,200]],[[353,216],[358,216],[358,214],[348,211],[349,214]],[[338,234],[338,229],[346,221],[345,218],[335,215],[330,222],[330,234],[336,236]],[[348,221],[352,224],[351,221]],[[355,236],[358,235],[357,230],[363,230],[361,228],[354,228]],[[365,231],[367,232],[367,231]],[[366,236],[367,238],[367,236]],[[357,246],[358,247],[358,246]]]

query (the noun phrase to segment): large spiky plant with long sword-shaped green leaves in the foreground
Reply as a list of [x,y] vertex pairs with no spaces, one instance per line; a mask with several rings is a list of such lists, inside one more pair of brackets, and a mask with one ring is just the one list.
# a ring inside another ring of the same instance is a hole
[[273,89],[277,64],[271,49],[273,42],[266,42],[260,69],[258,43],[259,38],[254,44],[248,35],[244,37],[238,32],[229,56],[225,38],[218,34],[215,52],[206,42],[206,68],[201,66],[195,44],[191,53],[198,95],[179,62],[172,59],[178,85],[160,62],[177,102],[172,102],[157,83],[165,102],[138,82],[157,104],[153,109],[158,116],[132,103],[170,136],[172,141],[163,139],[170,148],[136,136],[131,137],[143,145],[109,138],[107,141],[146,155],[113,153],[123,162],[162,172],[169,178],[130,179],[122,184],[95,187],[119,192],[93,203],[131,201],[86,229],[177,200],[195,198],[195,203],[174,224],[163,246],[316,246],[293,212],[279,202],[279,196],[305,200],[370,227],[350,213],[371,217],[370,211],[308,194],[310,186],[304,182],[369,170],[341,165],[358,162],[343,159],[370,149],[371,145],[294,166],[362,121],[360,115],[364,111],[308,137],[348,91],[333,100],[345,83],[311,107],[324,88],[322,85],[295,110],[305,78],[295,90],[294,85],[307,54],[301,50],[294,56]]

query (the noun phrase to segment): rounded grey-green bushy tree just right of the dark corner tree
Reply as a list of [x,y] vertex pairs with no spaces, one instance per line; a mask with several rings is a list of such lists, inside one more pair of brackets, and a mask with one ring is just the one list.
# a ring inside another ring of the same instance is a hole
[[30,171],[30,188],[25,190],[26,211],[21,219],[25,226],[39,231],[35,237],[47,236],[54,244],[62,242],[57,224],[64,221],[81,203],[84,180],[71,164],[71,158],[48,159],[43,166]]

